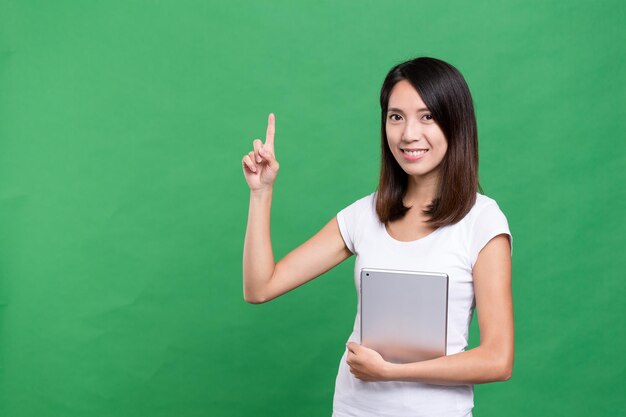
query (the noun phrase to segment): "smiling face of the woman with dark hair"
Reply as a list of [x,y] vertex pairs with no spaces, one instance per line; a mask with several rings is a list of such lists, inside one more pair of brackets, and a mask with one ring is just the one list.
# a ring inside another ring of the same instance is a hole
[[385,131],[391,153],[408,175],[436,177],[448,141],[415,88],[406,80],[391,90]]

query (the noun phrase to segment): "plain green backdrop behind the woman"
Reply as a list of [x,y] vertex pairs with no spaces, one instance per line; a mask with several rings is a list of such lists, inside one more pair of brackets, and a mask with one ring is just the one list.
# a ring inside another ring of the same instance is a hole
[[465,75],[514,236],[515,371],[474,415],[624,413],[625,18],[621,0],[3,0],[0,415],[330,415],[354,258],[246,304],[241,159],[275,112],[278,259],[375,189],[379,88],[419,55]]

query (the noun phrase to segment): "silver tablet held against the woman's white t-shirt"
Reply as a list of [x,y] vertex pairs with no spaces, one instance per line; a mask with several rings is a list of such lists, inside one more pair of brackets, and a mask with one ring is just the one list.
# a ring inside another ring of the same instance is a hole
[[361,344],[393,363],[446,354],[448,275],[361,270]]

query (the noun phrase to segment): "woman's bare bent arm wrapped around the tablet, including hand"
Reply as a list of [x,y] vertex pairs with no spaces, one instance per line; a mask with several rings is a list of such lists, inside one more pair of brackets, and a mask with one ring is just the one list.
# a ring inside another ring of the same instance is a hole
[[417,381],[440,385],[506,381],[513,372],[511,247],[506,235],[494,237],[474,265],[474,294],[480,345],[423,362],[391,364],[377,352],[350,343],[350,372],[366,381]]

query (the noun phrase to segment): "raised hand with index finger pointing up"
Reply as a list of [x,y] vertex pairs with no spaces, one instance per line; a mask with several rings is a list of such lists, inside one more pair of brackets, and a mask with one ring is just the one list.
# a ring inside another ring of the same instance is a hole
[[274,154],[274,131],[275,117],[270,113],[265,143],[255,139],[252,142],[254,150],[243,157],[243,175],[251,191],[270,189],[276,180],[279,164]]

